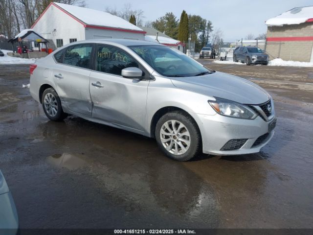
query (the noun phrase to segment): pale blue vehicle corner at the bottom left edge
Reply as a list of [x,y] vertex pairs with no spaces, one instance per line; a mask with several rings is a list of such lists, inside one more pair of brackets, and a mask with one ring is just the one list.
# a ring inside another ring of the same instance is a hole
[[15,235],[19,218],[11,192],[0,170],[0,235]]

